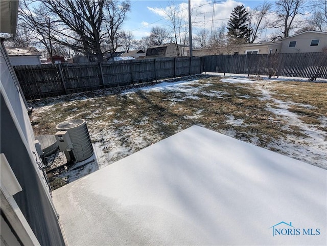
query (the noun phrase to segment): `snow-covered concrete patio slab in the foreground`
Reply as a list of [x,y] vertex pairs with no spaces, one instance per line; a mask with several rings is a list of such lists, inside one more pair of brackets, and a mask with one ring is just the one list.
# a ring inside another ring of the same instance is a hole
[[192,126],[54,190],[53,200],[69,245],[323,245],[325,234],[273,237],[269,227],[289,219],[325,232],[326,175]]

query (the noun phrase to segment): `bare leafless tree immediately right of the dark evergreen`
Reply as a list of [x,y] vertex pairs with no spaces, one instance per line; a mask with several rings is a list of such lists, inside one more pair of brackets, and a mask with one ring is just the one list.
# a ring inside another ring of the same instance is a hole
[[258,35],[261,33],[261,24],[265,16],[271,9],[272,4],[264,2],[263,4],[256,6],[253,10],[249,11],[249,26],[250,26],[250,43],[253,43]]

